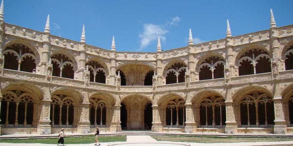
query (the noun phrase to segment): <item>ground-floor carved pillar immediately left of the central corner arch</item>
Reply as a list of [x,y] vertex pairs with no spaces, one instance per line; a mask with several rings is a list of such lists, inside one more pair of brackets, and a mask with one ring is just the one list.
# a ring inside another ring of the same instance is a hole
[[121,131],[121,121],[120,121],[120,107],[121,105],[113,106],[113,118],[110,126],[110,132],[120,132]]

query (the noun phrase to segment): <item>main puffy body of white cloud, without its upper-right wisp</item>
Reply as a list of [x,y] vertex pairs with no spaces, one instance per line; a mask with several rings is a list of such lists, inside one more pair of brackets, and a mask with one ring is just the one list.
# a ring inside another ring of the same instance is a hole
[[155,25],[155,24],[144,24],[144,32],[139,34],[140,40],[140,48],[139,50],[144,49],[148,46],[151,41],[157,40],[160,37],[161,40],[165,40],[166,34],[168,30],[164,29],[163,26]]

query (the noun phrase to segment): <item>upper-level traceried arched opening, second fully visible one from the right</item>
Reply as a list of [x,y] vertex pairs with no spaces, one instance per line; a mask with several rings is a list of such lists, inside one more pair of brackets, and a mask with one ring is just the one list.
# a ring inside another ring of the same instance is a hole
[[211,56],[205,59],[199,66],[199,80],[224,78],[225,60]]

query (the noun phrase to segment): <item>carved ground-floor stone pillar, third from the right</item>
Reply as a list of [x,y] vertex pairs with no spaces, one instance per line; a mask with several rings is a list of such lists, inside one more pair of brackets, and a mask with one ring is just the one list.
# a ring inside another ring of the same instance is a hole
[[185,121],[185,133],[196,133],[196,123],[193,114],[192,104],[188,103],[185,104],[185,114],[186,114],[186,121]]

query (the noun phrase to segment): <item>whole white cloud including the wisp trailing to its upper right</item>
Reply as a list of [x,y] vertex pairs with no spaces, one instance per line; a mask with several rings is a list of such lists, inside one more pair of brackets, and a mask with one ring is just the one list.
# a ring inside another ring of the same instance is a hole
[[171,21],[167,21],[165,25],[155,25],[152,23],[144,24],[144,32],[139,34],[140,47],[137,51],[142,51],[146,48],[152,41],[157,41],[160,37],[161,41],[166,40],[165,34],[168,30],[165,28],[167,26],[178,25],[180,18],[178,16],[172,18]]

